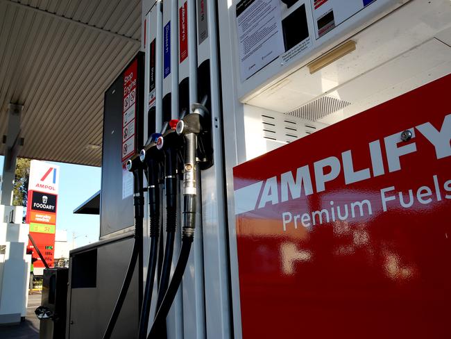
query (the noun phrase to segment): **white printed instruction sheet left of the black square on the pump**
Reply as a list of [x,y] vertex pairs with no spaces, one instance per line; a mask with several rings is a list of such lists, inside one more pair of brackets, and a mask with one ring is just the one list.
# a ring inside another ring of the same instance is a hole
[[280,1],[241,0],[236,16],[241,81],[244,81],[284,52]]

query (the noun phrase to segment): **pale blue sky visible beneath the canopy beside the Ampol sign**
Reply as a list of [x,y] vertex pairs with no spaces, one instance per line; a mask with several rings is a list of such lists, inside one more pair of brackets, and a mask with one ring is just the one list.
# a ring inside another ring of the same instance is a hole
[[[0,175],[3,169],[0,156]],[[101,167],[55,163],[60,166],[60,189],[56,213],[56,229],[67,231],[67,241],[74,248],[99,240],[99,215],[74,214],[74,209],[92,197],[101,186]]]

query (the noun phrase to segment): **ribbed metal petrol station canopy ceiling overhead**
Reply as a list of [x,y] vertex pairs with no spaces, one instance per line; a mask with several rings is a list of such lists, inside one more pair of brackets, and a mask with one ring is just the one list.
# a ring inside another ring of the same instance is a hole
[[140,0],[0,0],[0,137],[22,105],[19,157],[100,166],[103,94],[140,37]]

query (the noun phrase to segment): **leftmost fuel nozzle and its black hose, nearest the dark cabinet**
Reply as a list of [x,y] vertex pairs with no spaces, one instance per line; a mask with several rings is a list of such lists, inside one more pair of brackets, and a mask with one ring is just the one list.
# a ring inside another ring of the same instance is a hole
[[[126,277],[124,278],[124,283],[122,283],[121,292],[117,298],[116,305],[114,306],[113,313],[108,322],[105,334],[103,334],[103,339],[110,338],[111,333],[114,329],[114,325],[117,322],[117,317],[121,312],[122,305],[126,299],[127,291],[130,286],[130,281],[133,277],[133,272],[135,271],[135,266],[139,253],[142,251],[142,226],[144,218],[144,190],[142,188],[143,182],[143,168],[142,163],[139,160],[139,156],[135,154],[126,163],[126,169],[133,173],[133,206],[135,215],[135,241],[133,242],[132,255],[130,257],[130,263],[128,264]],[[142,270],[142,267],[139,267]]]

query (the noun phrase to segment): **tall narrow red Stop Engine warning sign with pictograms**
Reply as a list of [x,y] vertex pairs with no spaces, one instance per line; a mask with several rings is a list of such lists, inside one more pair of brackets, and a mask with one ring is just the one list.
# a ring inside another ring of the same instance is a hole
[[137,60],[124,72],[124,100],[122,110],[122,161],[135,154]]

